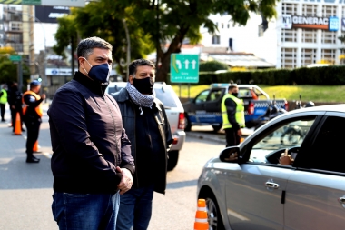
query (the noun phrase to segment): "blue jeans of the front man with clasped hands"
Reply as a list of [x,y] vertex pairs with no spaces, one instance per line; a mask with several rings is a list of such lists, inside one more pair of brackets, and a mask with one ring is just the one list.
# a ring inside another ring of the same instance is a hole
[[54,192],[52,211],[60,230],[113,230],[120,194],[67,194]]

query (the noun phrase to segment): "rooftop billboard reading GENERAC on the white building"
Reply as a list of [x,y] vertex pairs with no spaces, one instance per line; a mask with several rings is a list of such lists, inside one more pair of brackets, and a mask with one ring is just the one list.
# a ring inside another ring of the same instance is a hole
[[317,17],[317,16],[282,15],[281,27],[284,29],[303,28],[303,29],[321,29],[321,30],[338,31],[339,18],[336,16]]

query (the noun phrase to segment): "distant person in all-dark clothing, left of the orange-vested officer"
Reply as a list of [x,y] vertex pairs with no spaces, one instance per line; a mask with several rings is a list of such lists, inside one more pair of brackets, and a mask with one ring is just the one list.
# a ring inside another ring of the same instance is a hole
[[18,89],[18,84],[16,82],[13,82],[8,90],[8,105],[10,105],[11,110],[13,132],[15,132],[15,119],[17,113],[19,113],[20,117],[20,127],[22,131],[25,131],[23,128],[23,93]]

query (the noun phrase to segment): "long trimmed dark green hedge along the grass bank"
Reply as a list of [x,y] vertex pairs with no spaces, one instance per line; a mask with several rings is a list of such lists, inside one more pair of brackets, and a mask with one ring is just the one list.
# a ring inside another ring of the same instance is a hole
[[269,69],[221,74],[200,72],[197,85],[229,83],[230,80],[241,81],[241,84],[248,84],[252,80],[256,85],[345,85],[345,66],[302,67],[292,70]]

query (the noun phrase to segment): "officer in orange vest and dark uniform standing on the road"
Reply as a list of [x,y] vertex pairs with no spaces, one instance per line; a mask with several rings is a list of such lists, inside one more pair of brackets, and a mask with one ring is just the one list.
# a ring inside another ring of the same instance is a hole
[[43,110],[41,107],[42,101],[45,99],[45,95],[38,95],[41,89],[39,81],[33,81],[30,83],[30,90],[26,91],[23,95],[23,120],[27,129],[26,139],[26,162],[27,163],[39,163],[40,159],[34,156],[34,143],[38,139],[38,133],[41,125],[41,117]]

